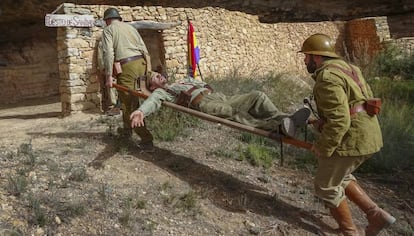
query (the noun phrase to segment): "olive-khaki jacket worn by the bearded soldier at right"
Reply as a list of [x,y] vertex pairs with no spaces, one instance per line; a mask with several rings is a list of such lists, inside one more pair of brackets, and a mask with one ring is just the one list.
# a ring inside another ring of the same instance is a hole
[[[351,71],[362,83],[358,84],[336,65]],[[315,147],[322,156],[361,156],[378,152],[383,145],[377,116],[365,111],[351,116],[350,108],[371,98],[372,91],[360,69],[341,59],[327,60],[313,74],[313,94],[320,118],[325,122]]]

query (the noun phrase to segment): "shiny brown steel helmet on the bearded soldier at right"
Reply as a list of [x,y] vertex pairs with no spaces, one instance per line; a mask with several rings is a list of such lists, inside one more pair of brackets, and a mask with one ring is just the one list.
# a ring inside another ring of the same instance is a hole
[[314,34],[303,42],[299,51],[305,54],[338,58],[335,53],[335,43],[326,34]]

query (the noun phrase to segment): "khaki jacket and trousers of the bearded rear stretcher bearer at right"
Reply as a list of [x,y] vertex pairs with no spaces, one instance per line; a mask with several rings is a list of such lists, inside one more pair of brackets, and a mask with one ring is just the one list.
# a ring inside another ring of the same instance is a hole
[[366,97],[358,84],[337,68],[351,71],[350,66],[341,59],[327,60],[313,75],[315,102],[324,121],[315,143],[321,157],[314,183],[316,194],[330,207],[344,200],[344,189],[355,180],[352,172],[383,146],[376,116],[365,111],[350,114],[352,107],[373,96],[359,68],[352,66]]

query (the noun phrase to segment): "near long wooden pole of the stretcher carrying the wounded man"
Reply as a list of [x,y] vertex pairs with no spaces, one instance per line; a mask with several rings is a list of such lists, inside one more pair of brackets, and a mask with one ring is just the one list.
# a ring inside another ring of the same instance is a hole
[[[128,92],[128,93],[130,93],[134,96],[137,96],[137,97],[141,97],[141,98],[144,98],[144,99],[146,99],[148,97],[148,95],[146,95],[144,93],[141,93],[141,92],[136,91],[136,90],[129,89],[129,88],[121,86],[119,84],[113,84],[113,87],[115,87],[118,90]],[[223,119],[223,118],[220,118],[220,117],[217,117],[217,116],[212,116],[212,115],[206,114],[204,112],[200,112],[200,111],[197,111],[197,110],[194,110],[194,109],[190,109],[190,108],[187,108],[187,107],[177,105],[175,103],[163,101],[162,104],[164,106],[179,110],[181,112],[185,112],[187,114],[197,116],[197,117],[199,117],[201,119],[204,119],[204,120],[208,120],[208,121],[211,121],[211,122],[216,122],[216,123],[219,123],[219,124],[223,124],[223,125],[229,126],[231,128],[239,129],[239,130],[242,130],[242,131],[247,131],[247,132],[250,132],[250,133],[253,133],[253,134],[256,134],[256,135],[260,135],[260,136],[263,136],[263,137],[266,137],[266,138],[276,140],[278,142],[287,143],[287,144],[290,144],[290,145],[293,145],[293,146],[296,146],[296,147],[300,147],[300,148],[304,148],[304,149],[310,149],[312,147],[312,144],[308,143],[308,142],[304,142],[304,141],[301,141],[301,140],[285,137],[285,136],[283,136],[281,134],[278,134],[278,133],[275,133],[275,132],[269,132],[269,131],[266,131],[266,130],[262,130],[262,129],[254,128],[254,127],[251,127],[251,126],[243,125],[243,124],[240,124],[240,123],[237,123],[237,122],[234,122],[234,121],[231,121],[231,120],[226,120],[226,119]]]

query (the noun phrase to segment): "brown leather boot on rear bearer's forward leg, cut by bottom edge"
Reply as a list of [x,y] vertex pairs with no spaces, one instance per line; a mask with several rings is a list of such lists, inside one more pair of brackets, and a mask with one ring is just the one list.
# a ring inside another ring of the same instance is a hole
[[344,199],[337,208],[329,208],[331,215],[338,222],[339,230],[344,236],[359,236],[357,227],[352,221],[351,210]]

